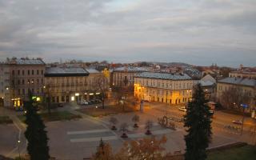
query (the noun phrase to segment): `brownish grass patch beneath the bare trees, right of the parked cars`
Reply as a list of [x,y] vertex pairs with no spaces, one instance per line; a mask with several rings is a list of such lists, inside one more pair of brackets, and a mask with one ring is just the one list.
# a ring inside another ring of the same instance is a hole
[[83,114],[90,115],[92,117],[101,117],[101,116],[107,116],[111,114],[120,114],[120,113],[129,113],[136,111],[134,107],[126,106],[125,110],[122,110],[122,106],[114,105],[114,106],[106,106],[105,109],[102,109],[101,107],[88,107],[88,108],[82,108],[78,110],[79,112],[82,112]]

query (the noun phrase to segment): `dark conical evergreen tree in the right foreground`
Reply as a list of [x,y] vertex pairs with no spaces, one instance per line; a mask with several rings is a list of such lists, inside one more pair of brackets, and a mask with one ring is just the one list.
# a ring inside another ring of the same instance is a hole
[[202,86],[194,88],[192,102],[189,102],[184,126],[187,127],[185,135],[186,160],[206,159],[206,148],[211,140],[210,107],[206,105]]

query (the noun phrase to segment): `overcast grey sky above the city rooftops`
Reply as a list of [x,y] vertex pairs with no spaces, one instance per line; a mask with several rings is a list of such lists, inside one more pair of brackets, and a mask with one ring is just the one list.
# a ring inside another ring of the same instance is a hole
[[256,66],[256,0],[0,0],[0,55]]

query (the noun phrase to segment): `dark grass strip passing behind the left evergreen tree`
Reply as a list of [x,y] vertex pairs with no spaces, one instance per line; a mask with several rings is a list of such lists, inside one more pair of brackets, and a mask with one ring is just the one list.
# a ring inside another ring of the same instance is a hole
[[[42,120],[44,122],[70,121],[72,119],[82,118],[81,115],[71,114],[69,111],[51,112],[50,114],[48,114],[48,113],[41,113],[39,115],[41,115],[41,118],[42,118]],[[25,120],[26,120],[25,115],[18,115],[18,118],[22,122],[25,122]]]

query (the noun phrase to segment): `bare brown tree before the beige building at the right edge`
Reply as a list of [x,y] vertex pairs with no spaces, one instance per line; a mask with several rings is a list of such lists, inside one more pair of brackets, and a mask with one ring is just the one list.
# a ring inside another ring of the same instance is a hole
[[243,92],[241,87],[231,87],[222,92],[220,102],[227,109],[242,111],[241,104],[250,104],[250,92]]

